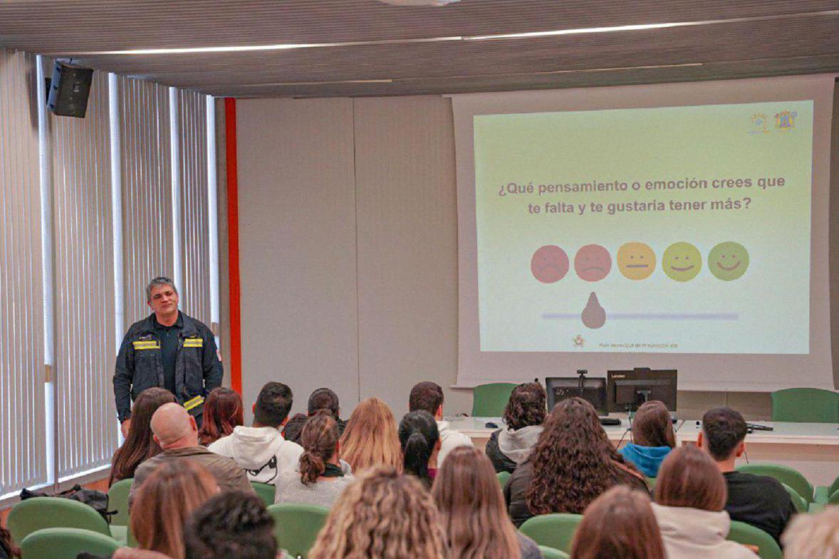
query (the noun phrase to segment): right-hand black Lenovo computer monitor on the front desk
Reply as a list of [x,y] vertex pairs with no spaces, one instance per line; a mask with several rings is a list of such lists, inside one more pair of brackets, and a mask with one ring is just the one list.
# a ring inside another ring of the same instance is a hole
[[676,410],[675,369],[654,371],[649,368],[635,368],[631,371],[607,371],[606,379],[609,411],[635,411],[649,400],[660,400],[668,410]]

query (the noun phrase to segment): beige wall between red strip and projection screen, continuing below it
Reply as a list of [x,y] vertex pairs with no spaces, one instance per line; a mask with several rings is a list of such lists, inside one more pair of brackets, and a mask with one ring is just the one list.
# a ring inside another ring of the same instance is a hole
[[[420,379],[457,367],[457,214],[451,102],[442,97],[237,102],[242,384],[270,379],[295,411],[312,389],[397,415]],[[769,394],[680,392],[679,414],[732,405],[769,418]],[[345,413],[345,415],[348,415]]]

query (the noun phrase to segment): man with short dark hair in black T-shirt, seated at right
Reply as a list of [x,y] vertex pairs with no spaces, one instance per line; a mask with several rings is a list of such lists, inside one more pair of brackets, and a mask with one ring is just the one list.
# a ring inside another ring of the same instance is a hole
[[731,408],[715,408],[702,416],[697,444],[717,462],[726,479],[726,510],[732,520],[756,526],[780,542],[795,504],[784,486],[768,476],[737,472],[734,462],[746,452],[746,421]]

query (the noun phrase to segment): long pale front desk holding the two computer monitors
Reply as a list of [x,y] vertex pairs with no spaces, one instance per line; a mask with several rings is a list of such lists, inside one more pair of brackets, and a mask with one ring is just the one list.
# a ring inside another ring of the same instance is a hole
[[[631,441],[627,432],[629,421],[621,418],[621,426],[604,426],[609,440],[618,446]],[[451,428],[469,436],[476,447],[486,447],[494,428],[487,421],[502,426],[498,417],[458,417],[449,420]],[[774,431],[754,431],[746,436],[748,462],[772,462],[795,468],[814,485],[830,485],[839,476],[839,424],[836,423],[771,423],[753,421],[759,425],[773,426]],[[675,424],[676,442],[679,445],[696,444],[701,426],[694,420]],[[746,457],[737,465],[747,463]]]

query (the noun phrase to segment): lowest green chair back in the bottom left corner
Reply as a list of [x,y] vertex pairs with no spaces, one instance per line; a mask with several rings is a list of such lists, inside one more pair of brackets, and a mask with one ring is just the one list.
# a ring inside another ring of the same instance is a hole
[[26,559],[76,559],[85,551],[96,556],[112,556],[117,549],[119,544],[111,537],[81,528],[44,528],[20,542],[20,551]]

